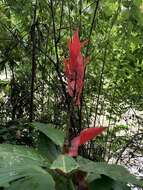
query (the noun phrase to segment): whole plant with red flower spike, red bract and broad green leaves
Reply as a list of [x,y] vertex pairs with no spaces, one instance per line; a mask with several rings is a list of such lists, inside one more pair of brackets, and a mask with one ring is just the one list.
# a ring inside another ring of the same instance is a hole
[[[70,58],[65,60],[68,79],[68,115],[80,107],[84,86],[85,67],[78,33],[69,43]],[[71,112],[72,109],[72,112]],[[93,162],[78,156],[79,146],[101,134],[106,127],[91,127],[78,131],[72,126],[67,130],[55,129],[44,123],[31,123],[38,132],[36,148],[18,145],[0,145],[0,186],[5,190],[126,190],[131,185],[143,187],[143,181],[131,175],[125,168],[106,162]],[[76,122],[75,122],[76,124]],[[74,128],[72,140],[70,134]],[[65,132],[66,131],[66,132]],[[67,143],[68,142],[68,143]]]

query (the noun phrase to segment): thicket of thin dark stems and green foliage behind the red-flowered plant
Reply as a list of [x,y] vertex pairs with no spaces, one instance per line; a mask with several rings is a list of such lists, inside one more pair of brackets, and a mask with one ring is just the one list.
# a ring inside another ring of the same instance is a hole
[[[77,29],[89,40],[90,63],[81,107],[69,113],[63,59]],[[72,125],[70,139],[106,125],[80,154],[133,166],[143,152],[142,51],[142,0],[0,0],[0,142],[37,147],[32,121],[63,131]]]

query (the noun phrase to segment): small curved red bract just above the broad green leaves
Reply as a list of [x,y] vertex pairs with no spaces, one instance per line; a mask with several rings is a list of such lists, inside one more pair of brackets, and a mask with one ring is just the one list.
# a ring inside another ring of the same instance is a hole
[[97,135],[100,135],[105,129],[106,127],[92,127],[82,130],[79,136],[75,137],[71,141],[71,147],[69,149],[68,155],[77,156],[80,145],[85,144],[87,141],[92,140]]

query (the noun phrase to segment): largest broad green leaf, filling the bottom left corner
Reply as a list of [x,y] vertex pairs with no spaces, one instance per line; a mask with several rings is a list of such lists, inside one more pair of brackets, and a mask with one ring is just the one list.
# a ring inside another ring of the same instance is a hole
[[35,167],[48,167],[49,163],[35,150],[17,145],[0,145],[0,186],[26,176]]

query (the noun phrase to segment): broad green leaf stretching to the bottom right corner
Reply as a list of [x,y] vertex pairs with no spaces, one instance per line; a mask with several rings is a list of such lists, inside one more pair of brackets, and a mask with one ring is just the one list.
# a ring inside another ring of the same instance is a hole
[[78,157],[77,162],[82,171],[87,172],[87,181],[100,178],[101,175],[106,175],[116,181],[123,183],[135,184],[143,187],[143,181],[137,179],[134,175],[130,174],[127,169],[116,164],[107,164],[105,162],[92,162],[88,159]]

